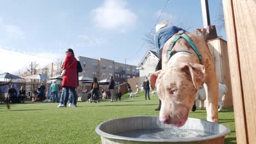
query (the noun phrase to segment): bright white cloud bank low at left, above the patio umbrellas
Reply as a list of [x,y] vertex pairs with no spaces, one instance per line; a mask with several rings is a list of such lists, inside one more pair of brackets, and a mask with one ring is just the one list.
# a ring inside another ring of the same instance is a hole
[[[0,45],[0,62],[1,62],[1,73],[13,73],[15,71],[21,70],[28,67],[31,62],[36,62],[39,67],[43,67],[46,64],[57,61],[58,58],[65,58],[65,55],[60,55],[59,53],[53,52],[40,52],[40,53],[30,53],[31,55],[26,55],[27,52],[15,52],[5,49],[1,49]],[[34,55],[34,56],[32,56]]]

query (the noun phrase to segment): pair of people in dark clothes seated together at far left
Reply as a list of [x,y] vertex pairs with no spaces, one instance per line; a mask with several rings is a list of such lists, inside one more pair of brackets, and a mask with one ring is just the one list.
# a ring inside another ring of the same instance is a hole
[[9,97],[9,103],[24,103],[26,99],[26,90],[24,86],[20,87],[19,94],[17,93],[14,85],[11,85],[7,91]]

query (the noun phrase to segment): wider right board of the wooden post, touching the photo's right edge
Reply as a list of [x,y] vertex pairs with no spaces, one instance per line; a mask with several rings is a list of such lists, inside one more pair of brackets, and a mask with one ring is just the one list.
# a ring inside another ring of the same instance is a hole
[[256,2],[233,1],[248,143],[256,141]]

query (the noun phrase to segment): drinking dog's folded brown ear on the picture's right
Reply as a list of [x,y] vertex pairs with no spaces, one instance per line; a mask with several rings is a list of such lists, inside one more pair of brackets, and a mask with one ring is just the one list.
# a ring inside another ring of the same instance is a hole
[[191,77],[196,89],[199,89],[205,80],[205,66],[194,63],[183,63],[182,71]]

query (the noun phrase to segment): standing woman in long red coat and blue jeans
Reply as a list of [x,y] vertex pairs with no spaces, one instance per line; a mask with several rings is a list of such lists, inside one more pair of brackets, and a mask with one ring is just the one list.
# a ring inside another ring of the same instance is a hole
[[[62,80],[62,92],[58,107],[67,107],[68,96],[75,98],[75,88],[77,88],[77,59],[74,57],[74,51],[72,49],[67,49],[66,51],[66,58],[62,66],[62,70],[64,69],[66,69],[66,73]],[[74,107],[72,104],[73,101],[69,101],[69,103],[69,107]]]

